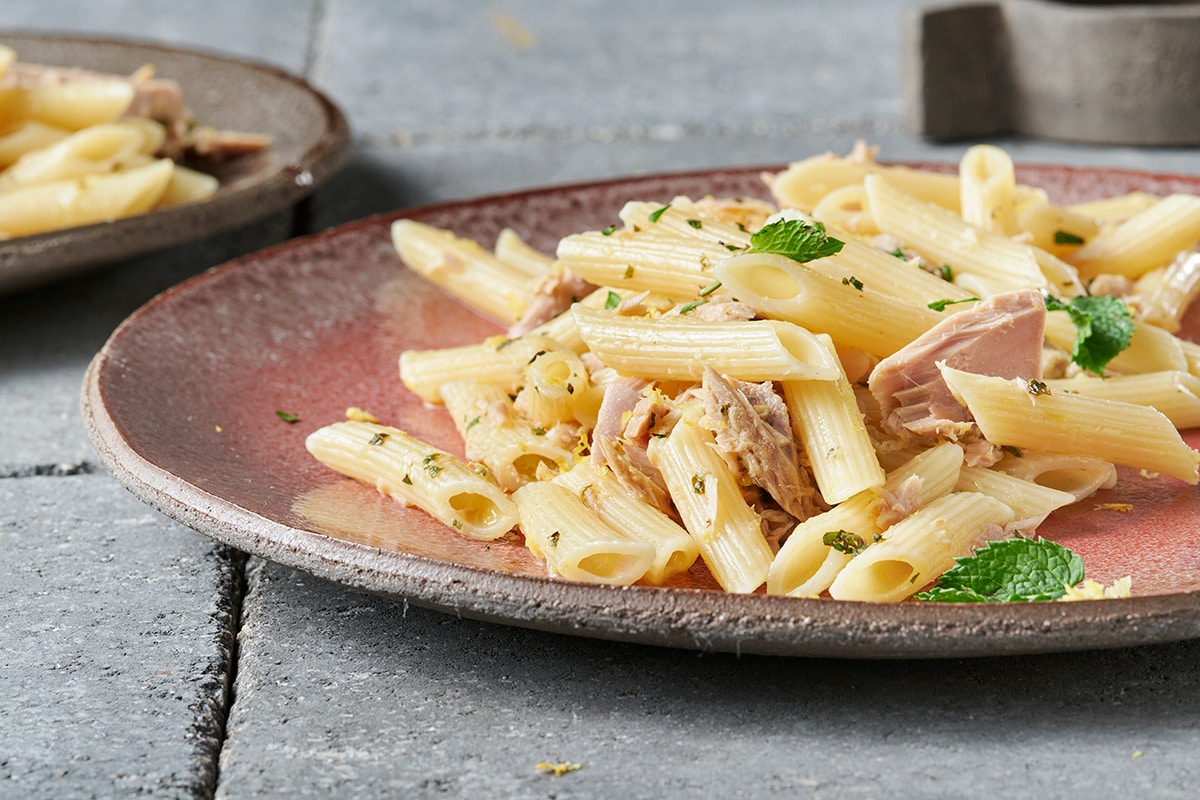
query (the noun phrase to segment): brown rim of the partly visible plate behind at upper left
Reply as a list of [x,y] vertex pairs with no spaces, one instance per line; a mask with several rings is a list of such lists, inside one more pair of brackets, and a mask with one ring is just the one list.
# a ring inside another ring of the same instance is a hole
[[[319,130],[313,130],[313,142],[296,157],[274,164],[270,172],[264,173],[262,180],[236,192],[217,194],[205,203],[160,209],[112,222],[0,240],[0,295],[35,288],[116,264],[124,259],[148,255],[167,247],[186,245],[242,228],[307,197],[341,170],[353,155],[350,126],[341,107],[304,76],[281,66],[210,48],[175,46],[146,38],[0,30],[0,43],[17,46],[18,59],[19,40],[47,44],[131,48],[221,62],[226,67],[244,70],[292,85],[298,92],[307,95],[316,102],[323,124]],[[298,181],[298,178],[305,174],[307,176]],[[120,237],[136,243],[115,247],[101,257],[92,254],[94,246]],[[62,255],[64,252],[66,257]],[[48,259],[48,253],[56,258]]]

